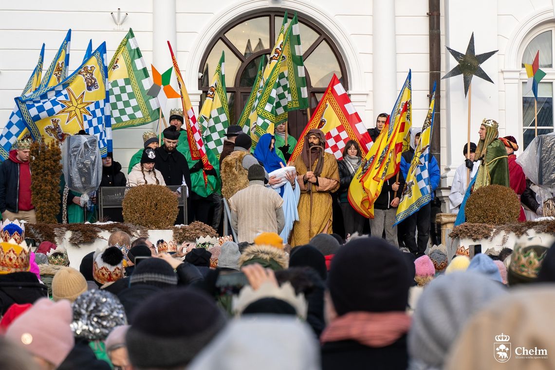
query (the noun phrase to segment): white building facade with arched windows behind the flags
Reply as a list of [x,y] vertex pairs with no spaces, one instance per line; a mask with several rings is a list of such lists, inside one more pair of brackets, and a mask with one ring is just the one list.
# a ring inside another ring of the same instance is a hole
[[[533,138],[533,98],[530,94],[523,98],[526,71],[522,63],[532,63],[538,49],[539,67],[547,73],[539,86],[538,133],[552,132],[553,1],[440,0],[440,5],[441,75],[457,65],[445,45],[464,53],[472,32],[477,54],[499,50],[482,64],[493,84],[477,77],[472,80],[471,140],[477,142],[483,118],[497,120],[499,134],[513,135],[521,148]],[[110,16],[118,8],[128,13],[120,26]],[[336,73],[371,128],[377,114],[390,112],[411,69],[413,125],[422,125],[430,93],[428,1],[26,0],[0,4],[0,126],[7,122],[13,99],[21,94],[35,67],[42,43],[46,43],[47,68],[68,28],[72,29],[69,72],[78,67],[89,39],[93,39],[93,47],[107,42],[111,58],[129,28],[133,28],[147,65],[166,70],[171,66],[169,40],[195,108],[203,98],[206,78],[211,78],[211,52],[224,50],[226,84],[228,93],[234,95],[230,95],[230,110],[236,120],[241,99],[251,88],[248,70],[253,64],[258,66],[252,63],[257,55],[273,46],[272,28],[281,24],[284,11],[290,17],[297,12],[304,24],[303,49],[312,54],[305,57],[312,107]],[[463,162],[468,101],[461,76],[441,80],[439,93],[441,186],[447,187]],[[168,110],[177,104],[170,100]],[[306,115],[299,113],[296,119],[301,122],[303,118],[306,121]],[[114,159],[122,164],[123,171],[127,172],[130,157],[142,148],[142,133],[156,127],[153,123],[114,131]]]

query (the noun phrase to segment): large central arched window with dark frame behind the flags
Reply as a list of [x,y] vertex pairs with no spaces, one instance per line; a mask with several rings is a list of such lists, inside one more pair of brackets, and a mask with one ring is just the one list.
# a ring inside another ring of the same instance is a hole
[[[223,28],[210,42],[199,66],[203,78],[199,90],[203,92],[200,105],[204,102],[214,69],[218,65],[222,50],[225,52],[225,84],[228,90],[230,123],[235,124],[245,107],[253,87],[260,58],[268,62],[270,49],[274,47],[285,11],[261,11],[249,13]],[[288,11],[291,19],[293,12]],[[305,64],[307,90],[311,109],[316,108],[327,84],[335,73],[349,89],[345,62],[333,40],[316,24],[298,14]],[[306,110],[289,113],[289,131],[296,138],[307,123]]]

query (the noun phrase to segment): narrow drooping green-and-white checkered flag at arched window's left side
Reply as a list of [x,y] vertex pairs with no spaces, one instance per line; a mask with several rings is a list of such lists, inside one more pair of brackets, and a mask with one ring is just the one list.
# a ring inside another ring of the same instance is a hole
[[219,159],[224,148],[224,138],[229,126],[228,93],[225,89],[224,52],[216,67],[212,84],[206,93],[199,113],[199,123],[204,135],[204,144]]

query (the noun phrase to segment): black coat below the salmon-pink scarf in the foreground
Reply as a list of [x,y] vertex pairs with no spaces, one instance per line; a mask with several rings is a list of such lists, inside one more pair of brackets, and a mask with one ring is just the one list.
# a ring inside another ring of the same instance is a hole
[[355,341],[324,343],[321,347],[322,370],[372,369],[406,370],[407,336],[387,347],[372,348]]

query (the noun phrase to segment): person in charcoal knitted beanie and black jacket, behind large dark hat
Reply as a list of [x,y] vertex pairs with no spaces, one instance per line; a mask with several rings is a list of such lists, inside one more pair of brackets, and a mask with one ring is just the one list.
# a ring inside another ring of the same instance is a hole
[[176,287],[177,281],[178,277],[168,262],[157,258],[141,261],[129,279],[129,288],[118,293],[125,315],[133,318],[142,302],[158,292]]

